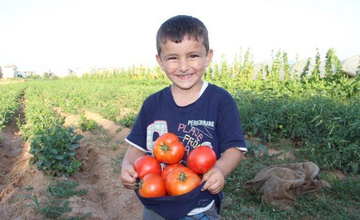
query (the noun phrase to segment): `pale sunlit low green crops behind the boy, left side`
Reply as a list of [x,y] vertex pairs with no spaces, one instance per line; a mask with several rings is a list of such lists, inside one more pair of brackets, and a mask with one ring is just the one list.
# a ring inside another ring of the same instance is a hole
[[167,80],[126,79],[63,79],[33,81],[40,99],[70,114],[83,109],[132,127],[143,100],[151,93],[169,85]]

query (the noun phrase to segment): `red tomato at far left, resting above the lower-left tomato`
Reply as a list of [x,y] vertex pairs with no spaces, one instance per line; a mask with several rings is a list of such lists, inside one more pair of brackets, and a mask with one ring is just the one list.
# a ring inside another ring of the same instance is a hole
[[153,173],[160,175],[161,166],[157,159],[144,155],[135,160],[134,168],[136,173],[138,173],[139,179],[143,178],[146,174]]

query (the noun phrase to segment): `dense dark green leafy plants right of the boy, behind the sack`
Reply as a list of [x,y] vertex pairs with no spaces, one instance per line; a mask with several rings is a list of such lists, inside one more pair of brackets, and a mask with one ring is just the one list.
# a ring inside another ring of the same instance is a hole
[[360,172],[358,78],[244,84],[234,96],[248,135],[291,139],[321,168]]

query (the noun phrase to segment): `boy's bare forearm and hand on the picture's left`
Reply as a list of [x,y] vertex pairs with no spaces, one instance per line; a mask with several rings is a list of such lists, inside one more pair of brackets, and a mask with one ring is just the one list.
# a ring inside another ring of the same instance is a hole
[[134,169],[135,160],[146,155],[145,152],[130,145],[125,153],[121,164],[121,183],[128,189],[135,189],[136,178],[138,173]]

